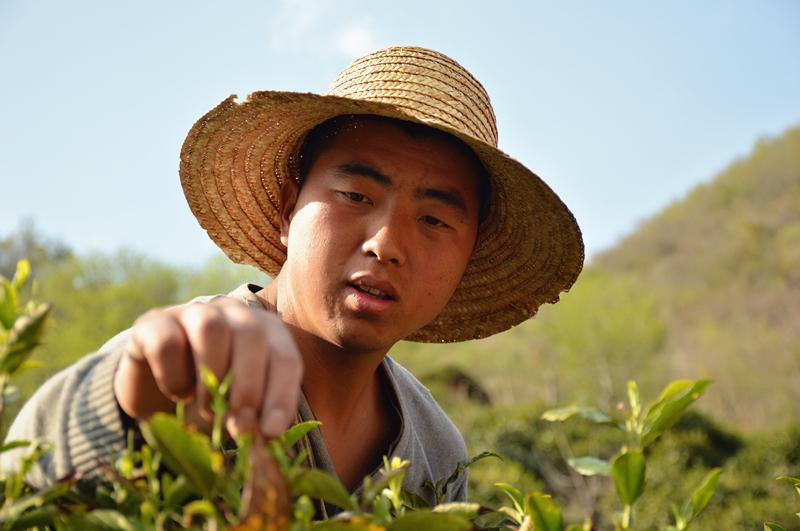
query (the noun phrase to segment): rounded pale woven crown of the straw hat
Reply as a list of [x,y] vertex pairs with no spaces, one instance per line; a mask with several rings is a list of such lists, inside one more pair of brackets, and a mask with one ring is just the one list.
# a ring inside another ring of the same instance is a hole
[[384,48],[353,61],[327,94],[385,103],[418,120],[497,147],[497,123],[483,85],[446,55],[425,48]]

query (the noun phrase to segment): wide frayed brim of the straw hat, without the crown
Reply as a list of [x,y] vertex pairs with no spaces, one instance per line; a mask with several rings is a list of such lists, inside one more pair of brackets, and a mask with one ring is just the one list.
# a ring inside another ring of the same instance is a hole
[[464,276],[442,312],[405,338],[454,342],[487,337],[528,319],[575,282],[584,250],[574,216],[536,174],[499,149],[398,105],[310,93],[264,91],[222,101],[184,141],[180,177],[200,225],[234,262],[271,276],[286,259],[280,189],[296,178],[297,151],[316,125],[373,114],[435,127],[474,150],[491,179],[489,211]]

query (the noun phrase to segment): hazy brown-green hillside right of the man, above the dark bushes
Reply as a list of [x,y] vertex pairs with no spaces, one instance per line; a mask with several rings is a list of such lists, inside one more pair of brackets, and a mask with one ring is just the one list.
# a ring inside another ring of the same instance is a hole
[[800,418],[800,128],[759,141],[597,256],[533,321],[395,355],[422,373],[460,367],[496,402],[613,406],[629,378],[655,390],[710,377],[703,407],[720,420]]

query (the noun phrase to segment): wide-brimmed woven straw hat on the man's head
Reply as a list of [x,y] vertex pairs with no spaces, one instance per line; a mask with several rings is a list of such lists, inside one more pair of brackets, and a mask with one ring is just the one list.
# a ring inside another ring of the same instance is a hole
[[356,59],[325,95],[230,96],[200,118],[181,149],[180,176],[200,225],[234,262],[275,276],[286,259],[278,205],[297,179],[297,152],[314,126],[343,114],[419,122],[470,146],[492,196],[473,256],[439,316],[407,339],[463,341],[501,332],[558,301],[583,267],[575,218],[533,172],[497,149],[483,86],[452,59],[393,47]]

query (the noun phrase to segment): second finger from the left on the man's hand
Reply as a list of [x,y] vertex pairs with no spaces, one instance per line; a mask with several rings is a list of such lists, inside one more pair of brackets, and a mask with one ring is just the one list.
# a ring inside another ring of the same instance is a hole
[[[180,322],[194,357],[197,381],[201,381],[201,365],[222,381],[231,362],[231,328],[221,308],[215,304],[189,304],[182,308]],[[200,414],[210,419],[210,396],[202,383],[197,385],[196,398]]]

